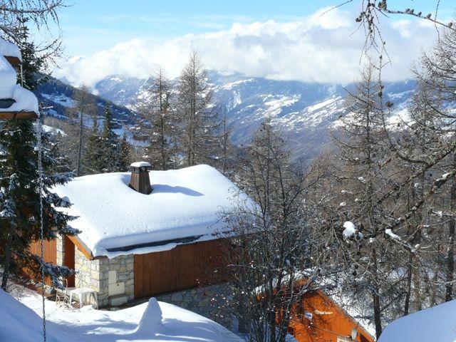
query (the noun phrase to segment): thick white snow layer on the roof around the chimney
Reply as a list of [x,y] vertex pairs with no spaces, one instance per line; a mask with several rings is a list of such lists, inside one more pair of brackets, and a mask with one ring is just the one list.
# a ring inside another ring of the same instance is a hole
[[70,224],[81,230],[78,238],[93,257],[160,252],[217,238],[224,227],[220,212],[237,195],[227,177],[208,165],[149,175],[150,195],[128,187],[130,172],[77,177],[55,188],[73,203],[65,209],[78,216]]

